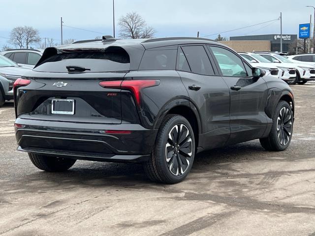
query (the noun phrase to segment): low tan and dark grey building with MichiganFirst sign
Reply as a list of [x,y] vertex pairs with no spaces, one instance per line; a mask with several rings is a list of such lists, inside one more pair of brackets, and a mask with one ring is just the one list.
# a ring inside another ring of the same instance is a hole
[[[297,46],[297,34],[283,34],[283,52],[294,50]],[[280,34],[263,34],[230,37],[222,43],[238,52],[271,51],[280,52]]]

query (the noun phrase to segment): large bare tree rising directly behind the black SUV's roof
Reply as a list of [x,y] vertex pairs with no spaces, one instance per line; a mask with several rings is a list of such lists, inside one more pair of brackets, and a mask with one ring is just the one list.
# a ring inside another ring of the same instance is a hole
[[136,12],[129,12],[121,16],[118,21],[122,38],[152,38],[155,29],[148,27],[146,21]]

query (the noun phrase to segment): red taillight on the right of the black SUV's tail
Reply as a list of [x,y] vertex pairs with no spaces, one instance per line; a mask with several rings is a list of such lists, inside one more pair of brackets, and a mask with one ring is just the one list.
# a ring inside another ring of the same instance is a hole
[[138,106],[141,102],[141,90],[159,85],[159,80],[124,80],[124,81],[102,81],[99,85],[103,88],[126,89],[133,93]]

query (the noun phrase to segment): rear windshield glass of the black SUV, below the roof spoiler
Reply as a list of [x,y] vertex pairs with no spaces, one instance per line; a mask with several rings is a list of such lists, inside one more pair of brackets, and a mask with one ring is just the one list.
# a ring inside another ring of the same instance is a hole
[[85,68],[84,73],[128,71],[130,69],[130,58],[122,48],[106,50],[105,52],[63,52],[43,60],[33,70],[68,72],[67,66]]

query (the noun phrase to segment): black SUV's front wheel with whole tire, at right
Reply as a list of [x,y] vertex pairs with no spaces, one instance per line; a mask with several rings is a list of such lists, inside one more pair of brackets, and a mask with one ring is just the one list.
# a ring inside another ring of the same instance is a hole
[[293,113],[290,105],[281,100],[276,107],[270,134],[260,139],[260,144],[269,151],[283,151],[290,145],[292,133]]

